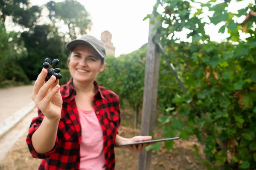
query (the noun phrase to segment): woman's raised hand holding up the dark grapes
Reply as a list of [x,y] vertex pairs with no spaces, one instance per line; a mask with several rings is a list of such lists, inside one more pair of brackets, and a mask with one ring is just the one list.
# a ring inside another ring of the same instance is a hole
[[47,69],[43,68],[35,81],[31,99],[49,120],[58,120],[61,117],[62,108],[59,80],[52,76],[45,82],[46,76]]

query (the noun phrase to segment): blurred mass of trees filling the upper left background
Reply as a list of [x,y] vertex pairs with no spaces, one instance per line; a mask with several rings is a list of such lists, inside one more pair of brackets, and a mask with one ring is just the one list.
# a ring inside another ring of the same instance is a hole
[[[42,9],[49,10],[50,22],[42,23]],[[6,23],[7,17],[11,23]],[[69,28],[68,34],[60,31],[61,22]],[[7,32],[5,24],[17,26],[20,31]],[[91,25],[90,14],[76,0],[50,1],[41,7],[33,6],[29,0],[0,0],[0,84],[27,84],[28,79],[35,80],[47,57],[59,59],[58,67],[66,69],[69,51],[65,44],[87,34]]]

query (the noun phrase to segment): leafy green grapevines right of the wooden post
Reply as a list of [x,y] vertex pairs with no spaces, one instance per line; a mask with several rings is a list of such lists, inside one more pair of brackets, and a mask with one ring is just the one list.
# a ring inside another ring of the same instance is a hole
[[[230,0],[160,0],[157,4],[164,12],[155,13],[160,24],[152,34],[159,30],[160,42],[188,89],[186,94],[173,92],[173,107],[158,121],[166,137],[197,136],[205,144],[207,169],[255,169],[256,6],[250,3],[233,13],[227,11],[229,4]],[[213,15],[204,13],[207,8]],[[237,23],[241,16],[245,20]],[[222,24],[219,33],[228,33],[227,40],[211,41],[205,33],[208,24]],[[175,36],[184,30],[189,42]],[[242,32],[248,35],[246,40],[240,38]],[[166,142],[166,147],[172,148],[173,143]]]

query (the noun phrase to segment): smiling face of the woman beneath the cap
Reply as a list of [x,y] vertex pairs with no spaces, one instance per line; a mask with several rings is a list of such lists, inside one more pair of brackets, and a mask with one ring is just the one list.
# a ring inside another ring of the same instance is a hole
[[71,53],[69,69],[76,81],[94,81],[97,73],[102,72],[104,67],[105,63],[101,65],[99,54],[89,45],[77,45]]

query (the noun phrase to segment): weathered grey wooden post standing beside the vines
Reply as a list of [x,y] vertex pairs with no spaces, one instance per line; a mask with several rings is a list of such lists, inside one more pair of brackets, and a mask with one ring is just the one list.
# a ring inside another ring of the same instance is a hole
[[[155,25],[159,23],[151,14],[150,20],[155,20]],[[158,22],[158,23],[157,23]],[[159,58],[157,45],[153,41],[152,29],[155,25],[149,24],[148,44],[145,65],[145,82],[143,94],[143,111],[141,135],[147,136],[153,133],[155,127],[155,117],[157,111],[157,88],[159,76]],[[138,170],[149,170],[151,165],[152,150],[142,151],[139,155]]]

